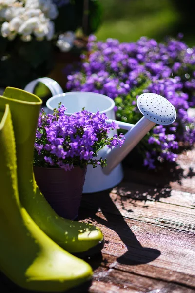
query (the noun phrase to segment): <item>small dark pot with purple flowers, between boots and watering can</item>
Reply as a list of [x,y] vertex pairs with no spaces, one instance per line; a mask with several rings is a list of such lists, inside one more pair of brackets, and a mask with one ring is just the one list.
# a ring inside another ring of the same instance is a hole
[[34,172],[40,191],[53,209],[65,218],[78,215],[87,165],[106,166],[106,159],[98,158],[105,146],[117,147],[124,137],[109,137],[117,129],[115,122],[107,124],[105,114],[82,111],[65,115],[59,104],[54,113],[41,111],[35,140]]

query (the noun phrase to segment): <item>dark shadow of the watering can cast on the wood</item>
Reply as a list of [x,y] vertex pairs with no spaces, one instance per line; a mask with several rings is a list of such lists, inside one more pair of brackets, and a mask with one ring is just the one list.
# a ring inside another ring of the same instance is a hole
[[[83,218],[92,218],[98,223],[114,230],[125,244],[127,251],[117,258],[118,263],[126,265],[145,264],[153,261],[160,255],[159,250],[145,248],[140,244],[137,237],[126,223],[125,218],[123,218],[115,203],[112,201],[109,191],[83,195],[81,207],[79,220]],[[99,209],[102,211],[107,221],[96,215]],[[113,220],[113,214],[117,215],[117,225],[115,227],[109,224],[109,222]],[[91,223],[93,223],[93,221],[91,221]],[[124,230],[126,231],[125,237]]]

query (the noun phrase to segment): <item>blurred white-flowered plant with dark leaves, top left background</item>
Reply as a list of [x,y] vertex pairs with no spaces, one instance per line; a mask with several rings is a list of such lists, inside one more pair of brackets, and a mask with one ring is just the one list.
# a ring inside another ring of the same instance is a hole
[[101,15],[98,0],[1,0],[0,87],[23,88],[47,75],[55,52],[79,54],[76,31],[95,32]]

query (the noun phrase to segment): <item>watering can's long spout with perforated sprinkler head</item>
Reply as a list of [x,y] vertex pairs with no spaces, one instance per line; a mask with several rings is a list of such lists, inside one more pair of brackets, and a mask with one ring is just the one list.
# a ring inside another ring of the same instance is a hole
[[169,125],[176,120],[175,107],[160,95],[152,93],[140,95],[137,99],[137,107],[143,117],[135,125],[118,123],[121,128],[128,130],[129,127],[129,130],[125,134],[125,143],[121,147],[109,149],[105,154],[107,159],[107,166],[103,168],[105,175],[110,174],[155,124]]

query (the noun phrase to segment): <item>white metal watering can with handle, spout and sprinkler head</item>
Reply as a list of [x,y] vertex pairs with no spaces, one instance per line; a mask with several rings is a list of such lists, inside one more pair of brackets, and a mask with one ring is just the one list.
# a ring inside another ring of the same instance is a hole
[[[115,102],[102,94],[92,92],[68,92],[63,93],[59,84],[49,78],[40,78],[25,87],[26,91],[33,92],[35,85],[41,82],[48,86],[53,97],[46,102],[46,112],[53,113],[54,108],[58,108],[61,102],[66,108],[66,115],[80,111],[83,107],[92,113],[99,110],[109,118],[108,123],[115,120]],[[138,142],[151,130],[155,124],[169,125],[176,120],[175,107],[165,98],[152,93],[141,94],[137,99],[137,106],[143,117],[135,124],[115,121],[122,129],[128,130],[125,134],[125,143],[121,147],[108,149],[105,146],[98,152],[98,157],[107,159],[107,166],[95,169],[88,165],[83,193],[93,193],[113,188],[119,184],[123,178],[121,161],[138,144]],[[117,133],[112,130],[110,136]]]

